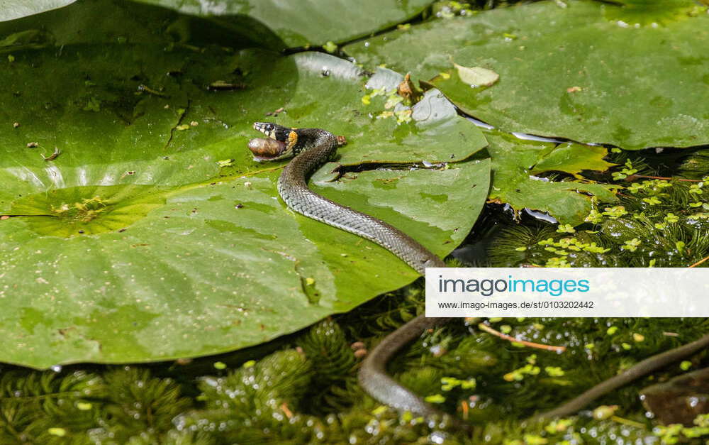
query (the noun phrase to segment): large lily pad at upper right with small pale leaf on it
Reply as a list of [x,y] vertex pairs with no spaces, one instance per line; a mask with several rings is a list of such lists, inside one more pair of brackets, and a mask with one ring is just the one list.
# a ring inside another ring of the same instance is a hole
[[[435,77],[461,109],[504,131],[630,150],[709,143],[706,8],[626,3],[540,1],[391,31],[345,51],[366,67]],[[500,77],[471,87],[454,64]]]

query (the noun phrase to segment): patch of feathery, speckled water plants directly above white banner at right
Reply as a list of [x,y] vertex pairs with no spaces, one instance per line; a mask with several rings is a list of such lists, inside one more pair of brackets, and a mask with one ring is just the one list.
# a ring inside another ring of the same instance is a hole
[[[627,160],[614,177],[635,175]],[[620,203],[593,199],[586,224],[515,226],[490,251],[492,265],[544,267],[688,267],[709,251],[709,176],[632,182]]]

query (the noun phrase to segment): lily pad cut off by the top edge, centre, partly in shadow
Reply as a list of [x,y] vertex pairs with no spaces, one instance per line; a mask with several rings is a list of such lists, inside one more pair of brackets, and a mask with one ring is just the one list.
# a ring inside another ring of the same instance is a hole
[[[209,16],[240,26],[240,16],[257,19],[283,40],[284,48],[344,42],[391,28],[425,9],[431,0],[138,0]],[[281,49],[281,48],[275,48]]]

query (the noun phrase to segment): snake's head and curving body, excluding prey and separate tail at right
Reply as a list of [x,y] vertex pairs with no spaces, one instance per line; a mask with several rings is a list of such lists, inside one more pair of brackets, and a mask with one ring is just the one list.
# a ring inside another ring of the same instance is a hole
[[[286,143],[286,155],[295,155],[278,179],[278,192],[288,207],[308,218],[374,241],[421,275],[425,274],[426,268],[446,267],[440,258],[411,236],[373,216],[330,201],[308,188],[308,178],[320,165],[333,157],[340,145],[333,133],[320,128],[288,128],[286,133],[272,123],[255,123],[254,127],[267,136],[275,136],[277,140]],[[386,363],[423,331],[448,321],[449,318],[419,316],[401,326],[367,355],[359,369],[359,384],[369,395],[398,410],[423,415],[440,414],[411,390],[389,377],[386,373]]]

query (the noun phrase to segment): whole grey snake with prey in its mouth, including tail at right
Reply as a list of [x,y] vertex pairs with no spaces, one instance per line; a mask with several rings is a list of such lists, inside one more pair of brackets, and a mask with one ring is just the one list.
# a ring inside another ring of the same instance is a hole
[[[425,275],[425,268],[446,267],[435,254],[393,226],[373,216],[337,204],[308,188],[308,178],[318,167],[334,157],[337,148],[344,143],[344,138],[320,128],[288,128],[268,122],[254,123],[254,128],[269,138],[254,139],[249,144],[256,160],[294,157],[284,167],[278,180],[278,192],[288,207],[299,214],[379,244],[421,275]],[[386,336],[362,362],[358,375],[359,384],[374,399],[397,410],[424,416],[441,414],[411,390],[393,380],[386,373],[386,363],[403,346],[418,338],[424,331],[450,320],[450,318],[428,318],[420,315]],[[596,398],[707,346],[709,346],[709,334],[689,344],[647,358],[564,405],[539,414],[536,418],[563,417],[573,414]]]

